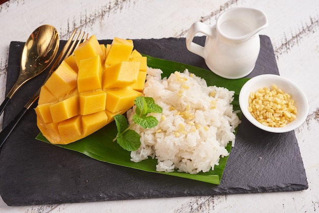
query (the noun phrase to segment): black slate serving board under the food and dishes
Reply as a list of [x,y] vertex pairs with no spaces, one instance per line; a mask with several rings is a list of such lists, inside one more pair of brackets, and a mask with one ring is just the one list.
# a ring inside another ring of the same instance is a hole
[[[202,44],[204,37],[196,37]],[[101,43],[110,43],[102,40]],[[11,42],[7,93],[19,72],[22,42]],[[153,57],[206,68],[189,52],[184,38],[134,40]],[[279,74],[271,40],[260,36],[260,54],[248,76]],[[45,74],[23,86],[7,106],[4,126],[41,85]],[[308,188],[294,131],[259,130],[243,116],[220,185],[143,172],[102,163],[84,154],[35,140],[36,115],[28,111],[0,153],[0,194],[11,206],[179,196],[300,191]]]

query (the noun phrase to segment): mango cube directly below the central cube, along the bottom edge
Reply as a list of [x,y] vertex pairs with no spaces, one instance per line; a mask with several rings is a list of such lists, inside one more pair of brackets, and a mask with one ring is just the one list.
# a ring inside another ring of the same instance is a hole
[[90,135],[103,126],[107,125],[108,116],[105,111],[82,116],[82,128],[84,135]]

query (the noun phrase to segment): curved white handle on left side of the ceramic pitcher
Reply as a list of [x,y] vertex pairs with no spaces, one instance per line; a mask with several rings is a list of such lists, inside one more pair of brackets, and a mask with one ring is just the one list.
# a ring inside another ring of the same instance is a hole
[[193,52],[196,55],[201,56],[202,58],[205,58],[205,52],[204,52],[204,48],[205,46],[201,46],[199,44],[196,44],[193,42],[194,36],[197,33],[203,33],[208,37],[213,37],[213,29],[215,28],[215,26],[213,28],[211,28],[210,26],[206,25],[203,22],[194,22],[191,26],[191,28],[188,31],[188,34],[186,36],[186,47],[189,51]]

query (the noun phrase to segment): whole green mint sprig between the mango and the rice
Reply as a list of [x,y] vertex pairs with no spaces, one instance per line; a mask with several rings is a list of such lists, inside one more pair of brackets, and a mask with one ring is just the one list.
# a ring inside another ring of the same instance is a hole
[[121,115],[115,115],[114,120],[117,127],[117,135],[113,142],[117,143],[127,151],[135,151],[141,146],[141,136],[131,129],[135,124],[143,128],[153,128],[157,126],[158,120],[154,116],[148,116],[149,113],[162,113],[163,109],[159,107],[152,97],[137,97],[134,101],[136,105],[135,114],[132,117],[134,123],[128,126],[126,118]]

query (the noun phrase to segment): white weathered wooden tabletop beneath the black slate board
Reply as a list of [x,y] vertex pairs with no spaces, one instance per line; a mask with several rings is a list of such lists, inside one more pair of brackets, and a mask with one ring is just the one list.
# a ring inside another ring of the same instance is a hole
[[[309,189],[300,192],[180,197],[94,203],[10,207],[0,212],[315,212],[319,211],[319,1],[317,0],[10,0],[0,5],[0,101],[5,97],[10,41],[25,41],[42,24],[52,24],[61,39],[73,28],[98,39],[185,37],[195,21],[215,24],[233,7],[263,10],[279,72],[306,93],[307,121],[296,129]],[[1,118],[2,119],[2,118]],[[2,121],[0,122],[2,123]],[[1,127],[1,125],[0,125]]]

